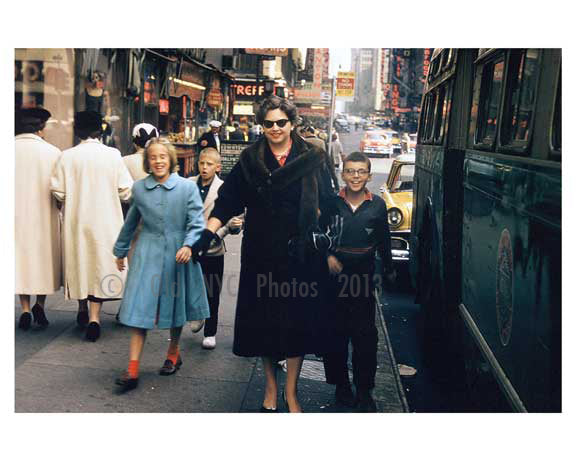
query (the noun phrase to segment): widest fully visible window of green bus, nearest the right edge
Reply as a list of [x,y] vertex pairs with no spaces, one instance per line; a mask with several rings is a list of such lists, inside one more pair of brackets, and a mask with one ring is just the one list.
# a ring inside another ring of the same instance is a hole
[[526,148],[536,102],[538,50],[513,51],[508,70],[508,94],[502,120],[502,145]]

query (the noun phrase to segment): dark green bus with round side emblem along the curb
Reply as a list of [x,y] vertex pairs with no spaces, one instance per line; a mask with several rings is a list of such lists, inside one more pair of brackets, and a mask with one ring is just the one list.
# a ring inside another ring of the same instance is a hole
[[436,49],[422,97],[412,281],[489,411],[561,411],[561,60]]

